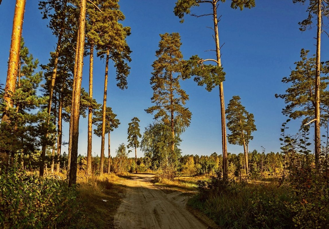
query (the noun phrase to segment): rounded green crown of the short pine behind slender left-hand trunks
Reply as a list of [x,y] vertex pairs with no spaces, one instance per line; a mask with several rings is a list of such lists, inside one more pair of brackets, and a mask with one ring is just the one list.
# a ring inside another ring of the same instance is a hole
[[[102,109],[93,110],[93,114],[92,123],[97,127],[97,129],[94,129],[94,134],[100,137],[102,136],[103,111]],[[105,134],[110,133],[120,125],[119,119],[115,117],[116,114],[113,113],[112,108],[107,107],[105,113]]]

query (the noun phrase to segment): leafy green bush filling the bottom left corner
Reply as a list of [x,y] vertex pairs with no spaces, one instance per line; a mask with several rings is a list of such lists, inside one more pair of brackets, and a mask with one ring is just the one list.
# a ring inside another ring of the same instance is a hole
[[0,171],[1,228],[60,228],[78,212],[75,187],[17,168]]

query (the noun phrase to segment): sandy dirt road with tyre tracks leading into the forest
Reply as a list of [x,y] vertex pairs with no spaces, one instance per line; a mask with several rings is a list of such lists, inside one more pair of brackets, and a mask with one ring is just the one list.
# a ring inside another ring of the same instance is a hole
[[185,207],[186,196],[163,191],[151,182],[154,174],[125,180],[127,192],[114,217],[117,229],[206,229]]

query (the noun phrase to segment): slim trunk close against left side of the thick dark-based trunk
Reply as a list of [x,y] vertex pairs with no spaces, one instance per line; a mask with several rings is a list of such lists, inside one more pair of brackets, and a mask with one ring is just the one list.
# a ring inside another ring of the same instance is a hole
[[66,171],[66,178],[69,180],[70,177],[70,166],[71,166],[71,151],[72,151],[72,128],[73,128],[73,101],[74,101],[74,88],[75,88],[75,81],[76,81],[76,74],[77,74],[77,63],[78,63],[78,50],[79,50],[79,29],[77,34],[77,43],[75,46],[75,62],[74,62],[74,73],[73,73],[73,85],[72,85],[72,101],[71,101],[71,114],[70,114],[70,125],[69,125],[69,132],[68,132],[68,154],[67,154],[67,171]]

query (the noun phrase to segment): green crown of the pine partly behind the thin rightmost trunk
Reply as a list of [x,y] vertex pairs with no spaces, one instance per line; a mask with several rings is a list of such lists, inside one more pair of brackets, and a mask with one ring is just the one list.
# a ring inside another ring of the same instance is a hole
[[[291,71],[289,77],[284,77],[282,82],[291,85],[286,94],[275,94],[287,104],[282,113],[292,119],[303,117],[303,124],[311,121],[315,115],[315,75],[316,75],[316,58],[315,55],[310,57],[309,51],[302,49],[300,51],[301,60],[295,62],[296,68]],[[320,121],[324,125],[329,105],[329,92],[326,90],[329,83],[328,63],[321,63],[320,73]]]

